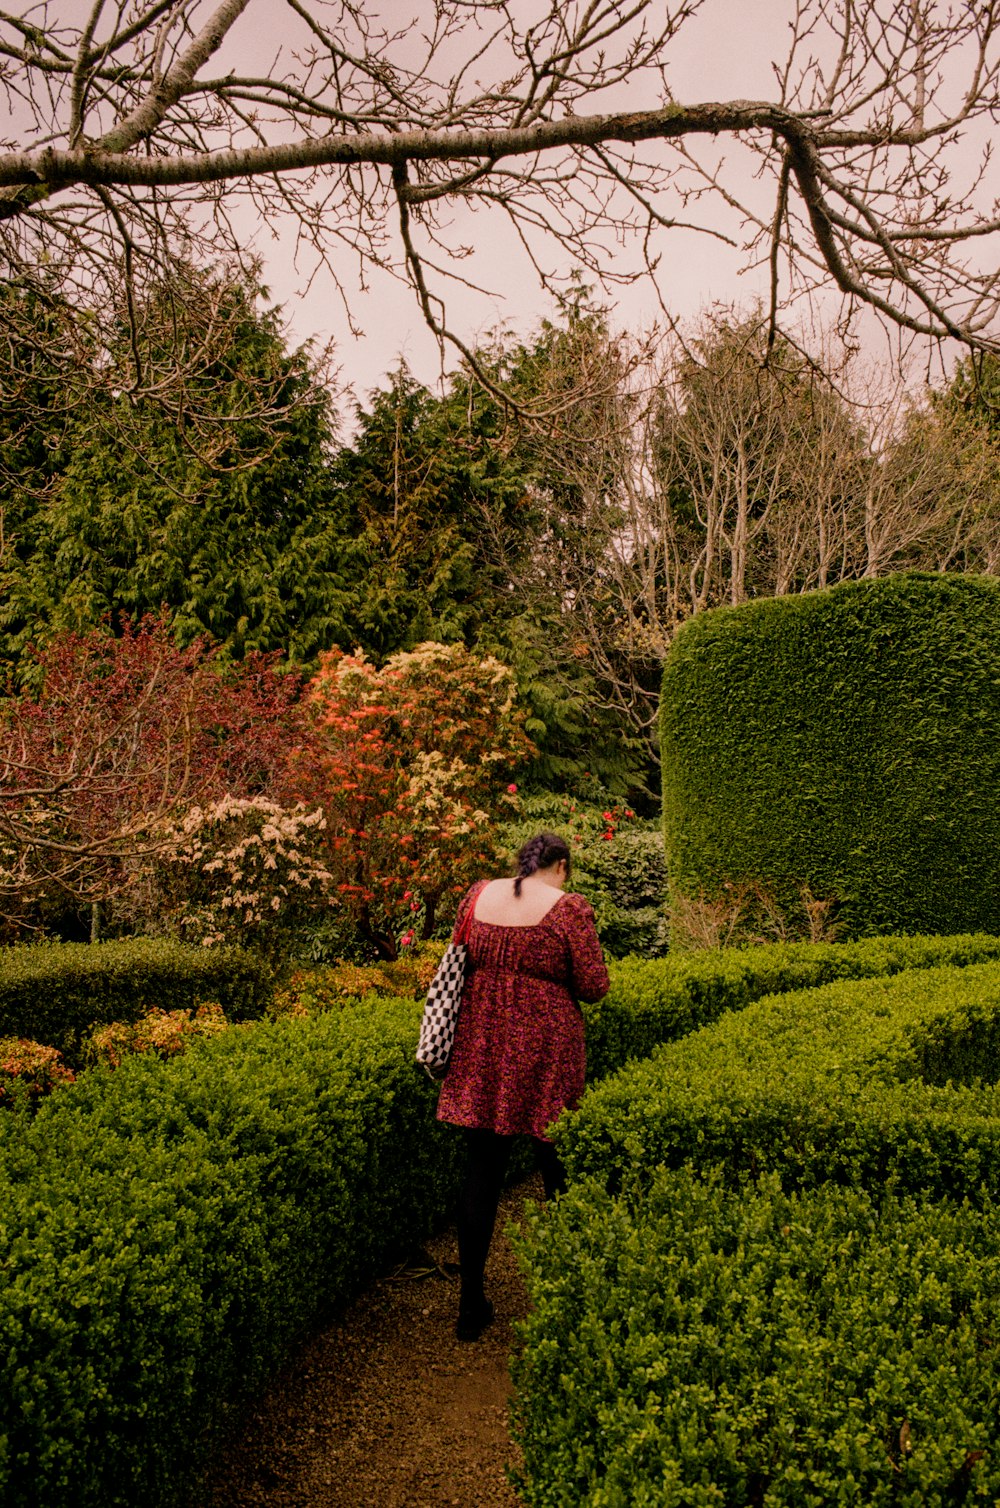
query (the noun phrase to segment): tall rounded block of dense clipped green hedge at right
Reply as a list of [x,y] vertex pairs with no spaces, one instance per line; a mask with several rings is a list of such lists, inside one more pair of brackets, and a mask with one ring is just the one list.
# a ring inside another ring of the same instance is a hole
[[671,893],[837,897],[843,935],[1000,927],[1000,582],[718,608],[661,707]]

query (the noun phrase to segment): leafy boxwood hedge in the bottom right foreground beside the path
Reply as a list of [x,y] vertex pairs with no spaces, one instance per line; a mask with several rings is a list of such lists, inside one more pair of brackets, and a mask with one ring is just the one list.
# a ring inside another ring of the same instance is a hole
[[[522,1240],[523,1246],[523,1240]],[[570,1187],[528,1229],[528,1508],[1000,1500],[1000,1208]]]

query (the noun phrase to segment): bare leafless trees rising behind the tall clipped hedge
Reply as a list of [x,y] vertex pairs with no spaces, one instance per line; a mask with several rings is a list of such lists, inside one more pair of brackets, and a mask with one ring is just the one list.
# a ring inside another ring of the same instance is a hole
[[[686,618],[894,570],[1000,569],[997,448],[857,351],[772,336],[768,308],[718,311],[685,341],[578,321],[552,339],[522,445],[541,519],[508,561],[546,605],[551,674],[585,659],[635,733]],[[557,404],[557,398],[563,403]],[[511,540],[511,546],[517,546]]]

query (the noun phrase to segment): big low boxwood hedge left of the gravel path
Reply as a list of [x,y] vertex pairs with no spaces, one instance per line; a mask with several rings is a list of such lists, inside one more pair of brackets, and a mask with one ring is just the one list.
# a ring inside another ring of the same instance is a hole
[[183,1499],[210,1427],[448,1208],[418,1009],[95,1069],[0,1139],[0,1500]]

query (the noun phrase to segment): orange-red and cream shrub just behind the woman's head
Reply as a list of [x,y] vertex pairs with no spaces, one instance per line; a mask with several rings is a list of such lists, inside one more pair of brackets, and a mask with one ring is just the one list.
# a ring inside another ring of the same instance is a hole
[[498,817],[534,752],[514,677],[462,645],[421,644],[382,670],[333,650],[306,713],[288,793],[323,805],[333,894],[395,958],[496,863]]

